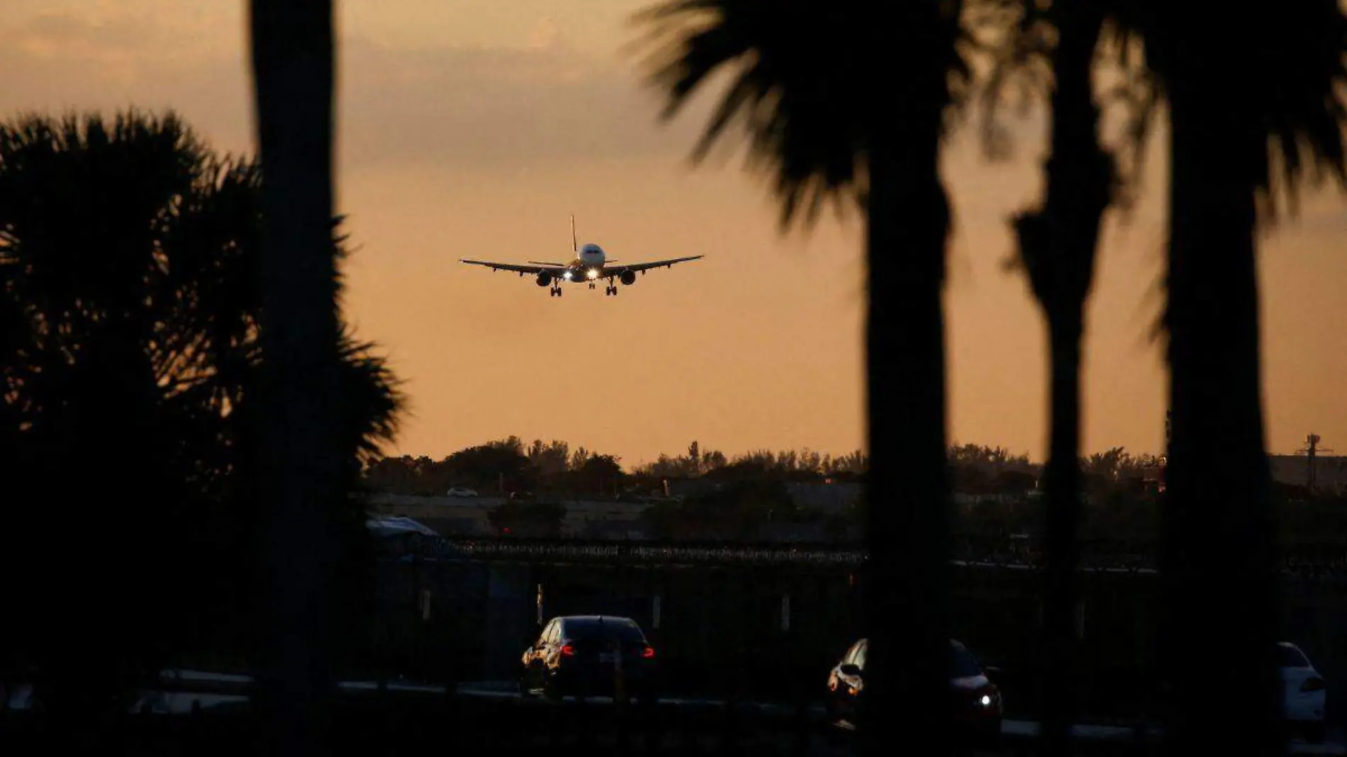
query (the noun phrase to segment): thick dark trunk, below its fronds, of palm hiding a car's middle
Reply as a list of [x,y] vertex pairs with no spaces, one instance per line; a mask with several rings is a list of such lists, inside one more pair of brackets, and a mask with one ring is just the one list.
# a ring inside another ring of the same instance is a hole
[[[881,132],[894,137],[874,145],[869,160],[870,641],[862,715],[869,754],[892,753],[894,734],[925,754],[947,754],[951,735],[942,298],[950,206],[939,174],[939,119],[924,127]],[[894,714],[907,722],[882,727]]]

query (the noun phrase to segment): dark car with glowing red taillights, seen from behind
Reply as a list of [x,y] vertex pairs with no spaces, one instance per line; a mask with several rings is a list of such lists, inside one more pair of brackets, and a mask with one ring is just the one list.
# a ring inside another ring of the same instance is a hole
[[655,647],[641,626],[620,616],[552,618],[520,659],[523,696],[616,696],[621,678],[628,696],[657,696]]

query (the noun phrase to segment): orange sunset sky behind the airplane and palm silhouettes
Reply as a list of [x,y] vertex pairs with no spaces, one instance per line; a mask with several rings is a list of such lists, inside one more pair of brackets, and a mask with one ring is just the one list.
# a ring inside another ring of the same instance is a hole
[[[859,225],[781,237],[737,158],[691,170],[700,109],[656,123],[621,46],[633,0],[338,0],[338,210],[357,252],[346,314],[405,380],[395,453],[443,457],[516,434],[634,465],[692,439],[846,453],[863,443]],[[242,0],[8,0],[0,112],[178,109],[217,148],[252,150]],[[1010,162],[964,129],[946,155],[958,216],[948,286],[951,439],[1041,459],[1045,345],[1005,218],[1039,191],[1043,121]],[[1164,132],[1157,133],[1157,148]],[[1167,166],[1111,218],[1090,306],[1084,449],[1158,451]],[[550,298],[459,257],[621,261],[682,255],[618,298]],[[1347,450],[1347,206],[1304,198],[1262,246],[1273,453],[1305,434]]]

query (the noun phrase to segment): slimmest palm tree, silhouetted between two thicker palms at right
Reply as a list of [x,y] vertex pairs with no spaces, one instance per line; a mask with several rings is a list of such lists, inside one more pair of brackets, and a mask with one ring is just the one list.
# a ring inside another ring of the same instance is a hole
[[[993,5],[1005,5],[993,0]],[[1045,62],[1051,71],[1051,154],[1047,193],[1034,210],[1014,217],[1018,267],[1028,275],[1048,326],[1051,440],[1047,488],[1047,591],[1044,593],[1043,737],[1047,754],[1068,754],[1076,656],[1076,568],[1080,560],[1080,354],[1084,306],[1094,277],[1099,225],[1113,201],[1114,159],[1099,143],[1099,108],[1091,74],[1106,7],[1090,0],[1010,3],[1018,28],[1009,32],[1009,62]],[[1048,39],[1052,39],[1049,43]],[[987,88],[990,112],[1001,73]],[[994,135],[994,132],[991,132]],[[991,136],[989,135],[989,136]]]

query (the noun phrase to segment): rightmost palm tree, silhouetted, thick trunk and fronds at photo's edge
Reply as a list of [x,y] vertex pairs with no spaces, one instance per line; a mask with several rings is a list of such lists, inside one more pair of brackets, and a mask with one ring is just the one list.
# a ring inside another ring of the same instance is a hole
[[1200,683],[1171,682],[1168,741],[1175,753],[1281,753],[1257,233],[1307,170],[1347,179],[1347,18],[1336,0],[1258,3],[1219,20],[1140,3],[1123,22],[1169,105],[1162,653],[1191,660],[1200,645],[1220,660]]

